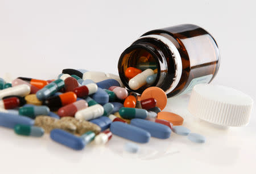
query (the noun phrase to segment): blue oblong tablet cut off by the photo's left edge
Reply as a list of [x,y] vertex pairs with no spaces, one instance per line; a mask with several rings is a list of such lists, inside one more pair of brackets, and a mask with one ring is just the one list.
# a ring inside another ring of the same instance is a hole
[[13,129],[18,124],[32,126],[34,120],[17,114],[0,112],[0,126]]

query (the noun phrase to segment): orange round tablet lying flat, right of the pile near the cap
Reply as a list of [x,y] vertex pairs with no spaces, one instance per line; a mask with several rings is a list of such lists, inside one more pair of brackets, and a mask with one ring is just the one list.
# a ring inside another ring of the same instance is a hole
[[179,126],[183,124],[183,118],[180,117],[176,113],[171,113],[171,112],[158,112],[158,119],[161,120],[166,120],[171,122],[174,126]]

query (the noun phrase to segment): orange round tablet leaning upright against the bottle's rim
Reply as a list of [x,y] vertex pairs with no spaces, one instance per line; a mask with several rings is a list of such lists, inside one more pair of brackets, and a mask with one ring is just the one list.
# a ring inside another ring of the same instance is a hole
[[161,111],[166,107],[167,96],[166,93],[159,87],[149,87],[142,92],[141,100],[154,98],[156,100],[156,107]]

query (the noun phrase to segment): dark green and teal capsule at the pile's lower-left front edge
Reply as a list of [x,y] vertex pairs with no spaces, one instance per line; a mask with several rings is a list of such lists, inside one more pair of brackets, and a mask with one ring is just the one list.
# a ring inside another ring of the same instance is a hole
[[16,134],[32,137],[42,137],[44,134],[43,128],[28,125],[16,125],[14,131]]

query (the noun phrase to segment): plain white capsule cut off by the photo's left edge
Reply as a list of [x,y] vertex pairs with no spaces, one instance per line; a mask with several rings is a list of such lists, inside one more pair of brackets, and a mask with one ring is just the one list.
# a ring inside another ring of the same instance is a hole
[[26,96],[30,94],[30,87],[27,84],[20,84],[0,91],[0,99],[9,95]]

